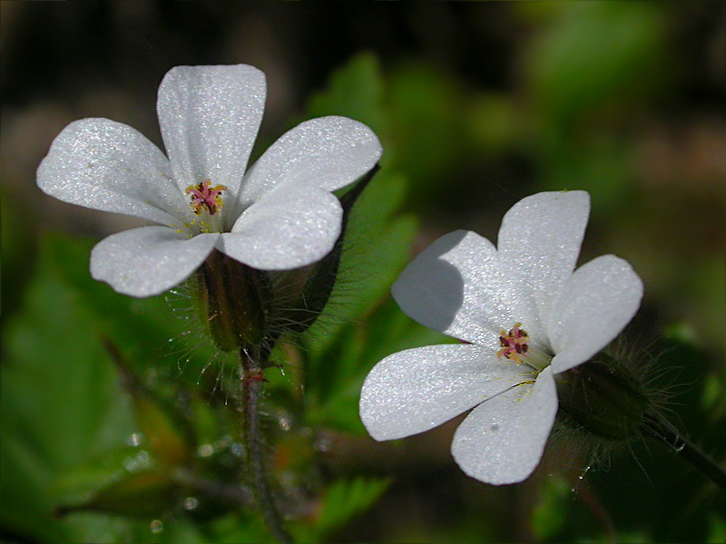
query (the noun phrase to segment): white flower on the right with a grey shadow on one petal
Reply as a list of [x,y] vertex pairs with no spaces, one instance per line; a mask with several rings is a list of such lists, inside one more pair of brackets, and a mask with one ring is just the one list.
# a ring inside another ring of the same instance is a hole
[[557,413],[555,374],[601,351],[643,296],[622,258],[574,270],[589,209],[584,191],[539,193],[506,213],[498,248],[460,230],[404,270],[392,290],[403,311],[469,344],[378,363],[360,398],[373,438],[427,431],[474,408],[451,446],[462,470],[492,484],[535,470]]

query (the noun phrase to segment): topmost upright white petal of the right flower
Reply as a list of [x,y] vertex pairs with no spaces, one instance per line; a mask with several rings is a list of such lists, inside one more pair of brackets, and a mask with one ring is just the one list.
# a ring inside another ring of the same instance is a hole
[[577,263],[589,214],[590,196],[572,190],[522,199],[502,220],[497,248],[508,271],[506,302],[539,344],[554,297]]

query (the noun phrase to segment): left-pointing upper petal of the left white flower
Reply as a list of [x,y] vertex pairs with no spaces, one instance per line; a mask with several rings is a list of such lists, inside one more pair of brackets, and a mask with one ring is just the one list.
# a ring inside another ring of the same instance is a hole
[[189,211],[162,151],[140,132],[108,119],[65,127],[41,162],[37,182],[64,202],[170,227]]

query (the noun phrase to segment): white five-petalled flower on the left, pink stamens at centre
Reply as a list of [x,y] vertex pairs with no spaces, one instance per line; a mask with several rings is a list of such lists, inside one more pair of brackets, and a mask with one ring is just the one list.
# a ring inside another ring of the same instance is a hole
[[313,119],[247,170],[265,92],[264,74],[244,64],[172,68],[157,101],[168,159],[107,119],[75,121],[58,135],[38,168],[44,192],[160,224],[100,242],[94,278],[152,296],[190,277],[214,248],[263,270],[304,267],[329,253],[342,216],[330,191],[370,170],[380,143],[358,121]]

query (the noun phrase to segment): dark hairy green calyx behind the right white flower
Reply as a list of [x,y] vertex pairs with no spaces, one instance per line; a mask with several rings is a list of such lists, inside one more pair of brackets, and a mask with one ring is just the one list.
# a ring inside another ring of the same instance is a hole
[[640,433],[648,396],[611,355],[595,355],[558,378],[560,413],[566,421],[606,440],[627,440]]

